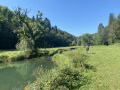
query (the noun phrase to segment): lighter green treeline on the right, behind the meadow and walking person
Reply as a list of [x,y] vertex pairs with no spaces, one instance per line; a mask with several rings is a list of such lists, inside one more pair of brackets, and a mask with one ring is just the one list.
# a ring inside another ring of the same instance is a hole
[[120,15],[115,18],[114,14],[110,13],[107,26],[100,23],[97,33],[84,34],[77,37],[72,43],[73,45],[111,45],[120,43]]

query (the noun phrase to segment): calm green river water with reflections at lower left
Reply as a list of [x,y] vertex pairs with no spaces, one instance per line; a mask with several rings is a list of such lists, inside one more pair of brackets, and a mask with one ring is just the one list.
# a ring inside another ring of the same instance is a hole
[[53,66],[47,57],[0,64],[0,90],[23,90],[35,80],[33,72],[36,68],[42,67],[46,70]]

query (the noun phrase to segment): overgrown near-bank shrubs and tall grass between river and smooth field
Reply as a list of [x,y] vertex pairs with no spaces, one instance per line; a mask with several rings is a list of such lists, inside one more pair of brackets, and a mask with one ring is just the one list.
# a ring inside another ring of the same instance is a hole
[[[37,80],[26,90],[76,90],[83,88],[91,82],[93,66],[87,64],[87,54],[82,53],[83,47],[73,51],[55,54],[52,62],[56,67],[43,70],[41,67],[34,71]],[[92,68],[91,68],[92,67]]]

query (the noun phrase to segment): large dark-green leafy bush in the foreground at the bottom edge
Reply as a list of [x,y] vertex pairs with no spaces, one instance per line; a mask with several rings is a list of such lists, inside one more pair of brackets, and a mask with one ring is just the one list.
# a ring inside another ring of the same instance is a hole
[[84,76],[84,74],[77,70],[67,67],[60,71],[58,76],[50,83],[50,86],[51,90],[56,90],[60,86],[66,88],[65,90],[75,90],[88,83],[88,77]]

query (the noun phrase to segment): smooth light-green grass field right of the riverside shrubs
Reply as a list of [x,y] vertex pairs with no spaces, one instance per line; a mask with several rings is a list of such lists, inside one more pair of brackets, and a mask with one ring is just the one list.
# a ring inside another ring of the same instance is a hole
[[88,63],[96,68],[84,90],[120,90],[120,45],[92,46]]

